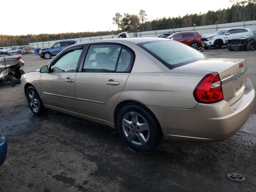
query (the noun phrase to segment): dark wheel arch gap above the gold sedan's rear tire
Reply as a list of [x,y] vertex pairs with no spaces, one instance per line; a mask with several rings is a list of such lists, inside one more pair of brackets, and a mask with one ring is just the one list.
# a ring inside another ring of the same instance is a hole
[[117,128],[117,117],[118,117],[118,113],[120,112],[120,110],[126,106],[127,104],[136,104],[142,108],[144,108],[147,112],[150,113],[150,115],[154,118],[154,121],[156,122],[158,128],[160,128],[160,132],[163,136],[163,132],[162,132],[162,127],[158,121],[158,119],[156,118],[156,116],[154,115],[154,113],[144,104],[138,102],[138,101],[134,101],[134,100],[125,100],[125,101],[122,101],[120,103],[118,103],[114,109],[114,124],[115,124],[115,128]]

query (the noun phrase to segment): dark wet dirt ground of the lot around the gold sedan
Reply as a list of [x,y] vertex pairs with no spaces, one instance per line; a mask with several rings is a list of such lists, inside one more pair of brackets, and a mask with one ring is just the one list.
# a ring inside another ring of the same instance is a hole
[[[204,54],[246,58],[256,87],[256,51],[222,48]],[[25,72],[49,62],[34,54],[22,59]],[[256,107],[224,142],[164,141],[153,152],[139,154],[107,126],[51,110],[33,115],[20,85],[0,83],[0,98],[0,134],[8,139],[0,192],[256,191]],[[231,172],[246,180],[229,180]]]

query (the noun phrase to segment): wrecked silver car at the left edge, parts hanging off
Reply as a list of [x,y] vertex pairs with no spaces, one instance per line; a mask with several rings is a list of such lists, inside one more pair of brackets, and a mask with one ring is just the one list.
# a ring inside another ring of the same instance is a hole
[[13,55],[7,51],[0,51],[0,82],[10,81],[14,87],[20,83],[20,78],[25,72],[21,69],[24,61],[21,55]]

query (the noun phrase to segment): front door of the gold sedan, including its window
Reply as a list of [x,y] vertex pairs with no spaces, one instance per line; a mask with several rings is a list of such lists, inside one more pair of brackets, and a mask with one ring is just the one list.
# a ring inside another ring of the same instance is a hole
[[66,50],[48,65],[48,73],[41,74],[40,88],[44,104],[79,112],[75,95],[75,79],[83,47],[75,46]]

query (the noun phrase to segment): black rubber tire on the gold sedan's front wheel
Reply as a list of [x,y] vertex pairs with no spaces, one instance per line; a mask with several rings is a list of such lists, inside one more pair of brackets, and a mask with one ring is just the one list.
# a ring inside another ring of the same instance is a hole
[[[31,92],[34,92],[36,99],[38,100],[38,110],[34,110],[33,106],[31,106],[30,102],[31,102],[31,97],[29,96],[32,95]],[[28,106],[30,108],[30,110],[36,114],[36,115],[40,115],[40,114],[44,114],[46,112],[46,109],[44,108],[44,104],[38,94],[38,92],[36,91],[36,89],[32,86],[28,87],[28,89],[26,90],[26,100],[28,102]]]

